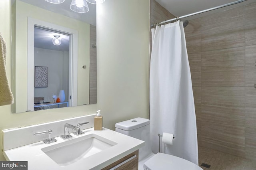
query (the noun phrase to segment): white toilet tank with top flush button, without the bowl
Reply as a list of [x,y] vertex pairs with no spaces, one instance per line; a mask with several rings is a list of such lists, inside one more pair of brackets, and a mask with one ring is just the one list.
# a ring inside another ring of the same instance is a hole
[[128,121],[116,123],[116,132],[143,140],[145,145],[139,149],[139,160],[152,154],[150,145],[150,120],[135,118]]

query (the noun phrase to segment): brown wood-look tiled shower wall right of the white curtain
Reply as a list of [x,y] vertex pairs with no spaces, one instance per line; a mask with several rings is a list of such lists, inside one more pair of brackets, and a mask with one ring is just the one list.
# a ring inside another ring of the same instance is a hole
[[198,145],[256,160],[256,3],[184,29]]

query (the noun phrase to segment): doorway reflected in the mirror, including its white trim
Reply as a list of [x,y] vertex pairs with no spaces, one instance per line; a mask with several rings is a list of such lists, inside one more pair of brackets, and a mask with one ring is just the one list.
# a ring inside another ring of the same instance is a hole
[[[28,33],[30,33],[27,45],[28,111],[76,106],[78,32],[28,18]],[[46,35],[44,38],[42,38],[43,34]],[[53,44],[54,35],[62,38],[60,45]],[[66,48],[63,47],[65,44]],[[52,46],[52,48],[46,46]],[[56,98],[59,97],[60,92],[64,92],[65,98],[57,103]],[[38,99],[41,100],[38,101]]]

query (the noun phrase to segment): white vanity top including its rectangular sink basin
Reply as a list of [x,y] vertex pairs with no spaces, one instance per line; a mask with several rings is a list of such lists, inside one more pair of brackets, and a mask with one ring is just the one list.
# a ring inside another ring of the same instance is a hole
[[[50,144],[41,140],[4,150],[4,156],[10,161],[28,161],[28,170],[100,170],[144,145],[142,140],[107,128],[94,130],[92,127],[83,131],[84,134],[72,134],[73,137],[66,140],[57,136],[57,142]],[[11,132],[4,134],[16,137]],[[17,135],[23,135],[18,132]],[[14,137],[11,139],[4,144],[15,141]]]

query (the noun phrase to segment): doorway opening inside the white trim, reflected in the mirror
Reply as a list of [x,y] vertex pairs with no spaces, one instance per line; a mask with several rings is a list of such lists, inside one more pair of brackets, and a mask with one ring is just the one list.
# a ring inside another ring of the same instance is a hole
[[69,106],[69,40],[34,26],[34,111]]

